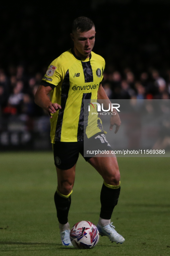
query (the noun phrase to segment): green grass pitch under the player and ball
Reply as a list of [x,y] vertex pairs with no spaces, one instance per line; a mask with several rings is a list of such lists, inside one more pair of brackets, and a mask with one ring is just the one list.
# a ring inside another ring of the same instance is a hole
[[[169,158],[118,158],[121,195],[112,215],[125,238],[120,245],[100,237],[91,250],[60,243],[56,171],[52,152],[0,154],[0,255],[170,255]],[[100,175],[80,157],[69,212],[70,227],[81,220],[95,225],[100,212]]]

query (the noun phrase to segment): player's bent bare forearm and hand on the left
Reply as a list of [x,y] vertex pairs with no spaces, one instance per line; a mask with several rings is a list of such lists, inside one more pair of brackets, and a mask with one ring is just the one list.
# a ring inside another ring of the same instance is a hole
[[61,109],[61,106],[57,103],[52,103],[48,97],[48,94],[52,88],[50,86],[40,85],[35,94],[35,103],[47,111],[50,118],[51,114],[54,114],[57,110]]

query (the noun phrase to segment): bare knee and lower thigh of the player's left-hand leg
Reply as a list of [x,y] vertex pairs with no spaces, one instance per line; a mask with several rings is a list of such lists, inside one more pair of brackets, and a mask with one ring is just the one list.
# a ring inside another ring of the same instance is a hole
[[75,169],[76,164],[72,168],[67,170],[59,169],[58,167],[56,167],[58,190],[63,195],[68,195],[74,186]]

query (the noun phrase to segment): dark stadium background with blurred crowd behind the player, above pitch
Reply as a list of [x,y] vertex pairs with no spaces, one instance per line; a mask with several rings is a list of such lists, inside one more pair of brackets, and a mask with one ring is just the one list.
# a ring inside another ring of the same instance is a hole
[[[70,8],[69,8],[70,5]],[[72,45],[71,23],[89,16],[94,52],[106,60],[112,99],[169,99],[169,1],[3,3],[0,43],[0,149],[50,149],[49,118],[34,94],[49,63]],[[70,11],[71,10],[71,11]]]

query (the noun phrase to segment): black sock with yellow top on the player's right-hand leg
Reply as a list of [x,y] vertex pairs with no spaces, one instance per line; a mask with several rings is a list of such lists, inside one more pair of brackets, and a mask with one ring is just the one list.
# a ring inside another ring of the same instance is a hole
[[103,182],[102,190],[100,193],[100,218],[110,220],[114,207],[117,205],[120,194],[120,183],[118,186],[112,186]]

